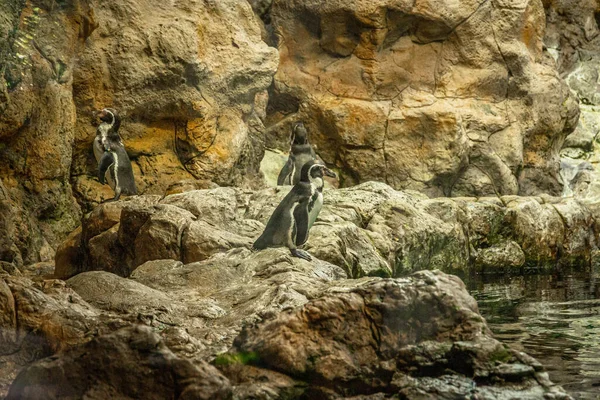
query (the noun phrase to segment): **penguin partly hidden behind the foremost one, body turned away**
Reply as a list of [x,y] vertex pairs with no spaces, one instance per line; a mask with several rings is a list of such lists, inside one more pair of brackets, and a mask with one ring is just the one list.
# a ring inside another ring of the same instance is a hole
[[311,160],[316,160],[317,155],[310,143],[308,143],[308,132],[302,122],[298,122],[292,129],[290,140],[290,155],[287,163],[279,172],[277,186],[295,185],[300,181],[302,166]]

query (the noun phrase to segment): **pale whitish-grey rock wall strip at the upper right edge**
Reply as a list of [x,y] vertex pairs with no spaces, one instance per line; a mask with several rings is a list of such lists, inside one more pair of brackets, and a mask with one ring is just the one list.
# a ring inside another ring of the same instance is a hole
[[546,4],[548,28],[544,43],[580,102],[575,132],[563,145],[565,195],[588,202],[600,200],[600,2],[596,0]]

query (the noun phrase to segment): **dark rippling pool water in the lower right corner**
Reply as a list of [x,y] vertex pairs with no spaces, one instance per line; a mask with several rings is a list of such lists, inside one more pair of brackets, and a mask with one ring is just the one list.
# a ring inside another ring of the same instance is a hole
[[600,276],[465,282],[498,340],[537,358],[574,398],[600,399]]

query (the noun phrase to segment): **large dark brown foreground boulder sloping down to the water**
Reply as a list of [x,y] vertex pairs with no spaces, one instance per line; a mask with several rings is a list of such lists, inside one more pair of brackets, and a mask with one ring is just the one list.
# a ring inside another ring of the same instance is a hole
[[462,398],[473,390],[484,399],[511,398],[517,391],[525,398],[570,398],[537,380],[535,362],[491,337],[458,278],[424,271],[402,280],[343,283],[243,329],[217,360],[248,396],[241,398],[267,390],[325,398]]

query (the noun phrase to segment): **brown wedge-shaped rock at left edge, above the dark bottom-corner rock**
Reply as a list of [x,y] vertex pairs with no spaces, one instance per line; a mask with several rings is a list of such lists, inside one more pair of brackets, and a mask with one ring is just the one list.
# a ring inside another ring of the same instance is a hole
[[101,321],[101,314],[62,281],[36,283],[23,276],[0,276],[1,395],[33,361],[122,326],[110,315]]

